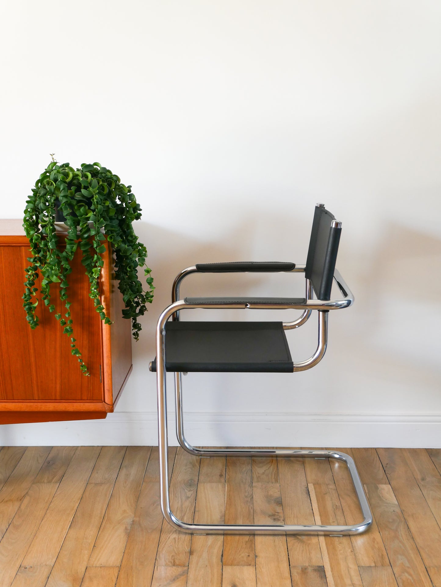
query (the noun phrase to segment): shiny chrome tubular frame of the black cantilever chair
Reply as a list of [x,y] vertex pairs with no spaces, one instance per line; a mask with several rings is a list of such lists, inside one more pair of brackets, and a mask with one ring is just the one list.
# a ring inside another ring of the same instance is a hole
[[[298,308],[305,311],[312,309],[319,310],[319,332],[318,332],[318,347],[314,355],[307,361],[294,363],[294,371],[309,369],[316,365],[326,350],[327,339],[327,325],[328,312],[326,310],[346,308],[354,302],[354,296],[345,284],[344,280],[338,271],[335,271],[335,281],[339,286],[340,291],[344,295],[344,299],[321,301],[311,300],[309,292],[307,299],[302,304],[280,304],[277,302],[255,304],[255,303],[218,303],[216,305],[207,304],[190,304],[182,300],[177,301],[179,296],[179,285],[182,279],[193,272],[196,272],[196,266],[184,269],[174,281],[173,285],[173,303],[166,308],[159,318],[156,328],[156,370],[157,370],[157,402],[158,402],[158,436],[159,436],[159,468],[160,468],[160,505],[164,518],[173,527],[184,532],[193,532],[194,534],[321,534],[321,535],[347,535],[347,534],[361,534],[366,531],[372,524],[372,513],[369,508],[363,491],[363,485],[356,470],[354,460],[345,453],[332,450],[286,450],[286,449],[247,449],[247,448],[214,448],[206,450],[203,448],[196,448],[189,444],[184,436],[183,429],[183,399],[182,399],[182,379],[181,373],[175,373],[175,392],[176,392],[176,431],[180,445],[188,453],[199,457],[214,457],[214,456],[247,456],[247,457],[303,457],[303,458],[335,458],[337,460],[345,461],[348,465],[349,473],[351,474],[352,482],[359,504],[361,506],[363,521],[354,525],[264,525],[264,524],[190,524],[183,522],[176,518],[170,509],[169,500],[169,464],[168,464],[168,437],[167,437],[167,397],[166,397],[166,362],[165,362],[165,336],[166,336],[166,322],[171,316],[173,319],[179,320],[179,311],[184,308],[206,308],[206,309],[288,309]],[[303,268],[298,268],[297,271],[304,271]],[[312,296],[311,296],[312,297]],[[308,316],[309,317],[309,316]],[[303,315],[300,319],[303,318]],[[299,319],[299,320],[300,320]],[[297,321],[296,321],[297,322]]]

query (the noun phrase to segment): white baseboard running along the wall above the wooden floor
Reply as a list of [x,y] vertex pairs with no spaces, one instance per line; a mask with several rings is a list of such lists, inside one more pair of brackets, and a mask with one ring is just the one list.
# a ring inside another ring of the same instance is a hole
[[[0,426],[2,446],[154,445],[156,412],[116,412],[105,420]],[[188,412],[187,440],[197,446],[441,448],[441,414]],[[174,414],[169,443],[176,445]]]

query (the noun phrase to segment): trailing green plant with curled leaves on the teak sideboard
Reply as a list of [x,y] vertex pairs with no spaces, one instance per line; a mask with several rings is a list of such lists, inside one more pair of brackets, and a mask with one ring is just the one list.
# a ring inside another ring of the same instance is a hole
[[[52,157],[53,158],[53,157]],[[67,234],[59,237],[55,230],[56,214],[62,214]],[[69,163],[52,161],[43,171],[26,200],[23,227],[31,244],[29,266],[25,269],[25,294],[23,308],[32,329],[38,326],[35,313],[38,305],[36,282],[41,274],[41,299],[49,311],[55,311],[51,303],[51,284],[59,284],[60,299],[66,312],[55,318],[70,337],[72,355],[78,358],[80,369],[89,375],[80,350],[73,337],[73,322],[68,301],[68,276],[76,249],[82,251],[82,264],[89,278],[89,296],[96,311],[106,324],[111,324],[100,300],[99,276],[104,264],[104,241],[112,243],[115,251],[115,276],[123,295],[123,318],[132,319],[132,334],[139,339],[141,325],[137,321],[146,312],[146,304],[153,299],[153,278],[146,266],[146,247],[138,241],[132,222],[141,218],[141,208],[132,193],[131,185],[124,185],[120,178],[99,163],[82,163],[74,169]],[[65,245],[65,246],[64,246]],[[144,267],[146,289],[137,276],[138,266]],[[35,300],[35,301],[34,301]]]

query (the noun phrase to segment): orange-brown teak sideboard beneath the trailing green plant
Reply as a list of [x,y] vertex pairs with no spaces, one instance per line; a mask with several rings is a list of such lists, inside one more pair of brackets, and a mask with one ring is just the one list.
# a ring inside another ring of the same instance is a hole
[[26,322],[21,298],[30,255],[22,221],[0,220],[0,424],[105,418],[132,371],[131,321],[122,318],[112,249],[106,241],[100,278],[111,326],[101,321],[89,298],[80,248],[68,276],[73,336],[90,377],[80,372],[78,359],[70,354],[69,336],[55,319],[55,313],[66,312],[58,284],[51,286],[55,312],[49,312],[38,293],[39,326],[31,330]]

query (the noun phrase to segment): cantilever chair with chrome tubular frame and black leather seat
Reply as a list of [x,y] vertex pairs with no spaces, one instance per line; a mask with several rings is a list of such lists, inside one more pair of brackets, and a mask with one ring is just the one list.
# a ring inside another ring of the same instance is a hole
[[[159,431],[160,503],[164,518],[173,527],[195,534],[360,534],[372,524],[363,485],[352,458],[333,450],[258,450],[255,448],[196,448],[184,437],[181,374],[187,372],[248,372],[295,373],[311,369],[322,359],[326,350],[328,312],[348,308],[354,296],[335,269],[341,223],[317,204],[312,222],[306,265],[282,262],[208,263],[188,267],[174,280],[172,303],[160,315],[156,329],[156,359],[150,363],[156,371]],[[305,298],[185,298],[179,299],[183,279],[192,273],[208,272],[289,272],[305,275]],[[341,298],[331,299],[332,281]],[[314,294],[317,299],[314,299]],[[181,322],[184,309],[301,309],[294,322]],[[285,330],[304,324],[312,310],[318,312],[318,346],[310,359],[295,363],[291,359]],[[172,321],[169,322],[169,318]],[[303,457],[335,458],[345,461],[361,506],[363,521],[355,525],[261,525],[261,524],[188,524],[176,518],[170,510],[169,471],[167,463],[166,372],[174,373],[176,392],[176,431],[181,447],[200,457]]]

